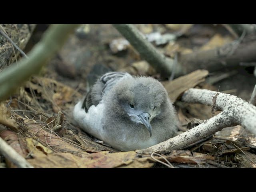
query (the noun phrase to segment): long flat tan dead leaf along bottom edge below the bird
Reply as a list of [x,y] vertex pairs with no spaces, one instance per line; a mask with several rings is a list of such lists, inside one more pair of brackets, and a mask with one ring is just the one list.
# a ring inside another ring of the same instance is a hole
[[151,167],[153,163],[136,160],[136,152],[98,152],[84,154],[82,157],[70,153],[56,153],[29,159],[36,168],[116,168],[116,167]]

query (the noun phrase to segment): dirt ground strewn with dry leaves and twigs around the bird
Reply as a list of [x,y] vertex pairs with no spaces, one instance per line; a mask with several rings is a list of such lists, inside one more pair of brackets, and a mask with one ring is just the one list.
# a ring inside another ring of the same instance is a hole
[[[175,41],[161,45],[153,42],[160,52],[172,58],[175,52],[186,54],[207,50],[235,40],[222,25],[194,24],[187,28],[178,24],[136,26],[144,34],[182,32]],[[37,26],[26,52],[40,40],[46,28],[47,25]],[[157,161],[152,155],[138,157],[136,152],[118,153],[118,150],[104,145],[74,126],[72,122],[72,107],[85,96],[90,85],[104,72],[126,71],[133,75],[166,80],[148,64],[138,64],[142,58],[132,46],[128,45],[120,51],[111,49],[113,40],[120,38],[123,37],[111,24],[82,25],[70,36],[58,55],[43,68],[39,76],[32,76],[4,102],[11,111],[11,117],[18,123],[19,130],[13,132],[0,125],[1,137],[11,146],[18,141],[20,148],[16,150],[34,167],[167,167],[161,163],[165,160],[159,156],[155,156]],[[209,71],[204,86],[210,90],[234,94],[248,101],[256,84],[253,70],[250,66],[239,66],[222,71]],[[223,74],[227,76],[218,79]],[[203,120],[212,117],[211,108],[208,106],[185,104],[179,100],[174,105],[183,131],[187,130],[188,123],[194,118]],[[256,141],[253,141],[254,136],[244,128],[224,128],[215,136],[164,156],[174,167],[180,168],[256,167]],[[236,138],[246,136],[252,140]],[[15,167],[3,156],[0,156],[0,166]]]

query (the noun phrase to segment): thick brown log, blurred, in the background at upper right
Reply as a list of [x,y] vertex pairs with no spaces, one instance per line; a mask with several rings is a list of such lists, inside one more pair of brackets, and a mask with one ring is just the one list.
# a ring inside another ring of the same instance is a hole
[[220,48],[183,54],[179,62],[184,73],[197,69],[207,69],[209,72],[227,67],[238,66],[241,62],[255,62],[256,38],[247,37],[242,42],[232,42]]

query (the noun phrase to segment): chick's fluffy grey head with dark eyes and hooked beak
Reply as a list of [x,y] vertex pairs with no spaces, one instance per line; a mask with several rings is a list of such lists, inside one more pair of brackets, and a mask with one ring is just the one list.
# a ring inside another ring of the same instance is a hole
[[134,124],[143,124],[152,136],[150,122],[161,118],[168,100],[164,86],[151,77],[136,77],[120,81],[112,93],[116,115],[125,116]]

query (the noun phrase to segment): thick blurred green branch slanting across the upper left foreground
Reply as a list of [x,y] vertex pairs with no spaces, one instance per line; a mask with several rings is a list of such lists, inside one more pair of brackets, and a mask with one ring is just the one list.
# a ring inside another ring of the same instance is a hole
[[78,26],[78,24],[50,26],[42,40],[28,53],[28,59],[22,58],[18,66],[12,65],[0,75],[0,101],[10,96],[32,74],[37,74]]

